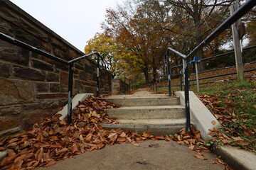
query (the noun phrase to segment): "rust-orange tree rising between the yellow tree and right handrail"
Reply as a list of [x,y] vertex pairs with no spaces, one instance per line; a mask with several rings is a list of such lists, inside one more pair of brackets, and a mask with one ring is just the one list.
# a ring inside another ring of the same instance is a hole
[[137,57],[137,67],[144,73],[146,84],[149,83],[151,69],[153,77],[156,77],[163,49],[166,49],[164,30],[156,29],[159,23],[151,16],[151,8],[147,5],[127,2],[126,6],[118,6],[115,10],[107,9],[106,23],[102,26],[107,35]]

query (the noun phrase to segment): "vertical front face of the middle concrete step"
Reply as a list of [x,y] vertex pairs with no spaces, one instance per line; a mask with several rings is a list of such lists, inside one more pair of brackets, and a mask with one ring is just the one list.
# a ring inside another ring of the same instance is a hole
[[112,118],[119,119],[179,119],[185,118],[184,108],[162,108],[162,109],[110,109],[106,113]]

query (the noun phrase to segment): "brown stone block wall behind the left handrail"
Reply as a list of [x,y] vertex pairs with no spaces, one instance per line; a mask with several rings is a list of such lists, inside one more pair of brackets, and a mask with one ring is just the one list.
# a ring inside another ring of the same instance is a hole
[[[84,55],[11,1],[0,0],[0,32],[64,60]],[[96,94],[97,64],[85,59],[74,66],[73,94]],[[110,95],[112,75],[106,70],[100,75],[100,93]],[[0,135],[30,128],[67,98],[67,65],[0,40]]]

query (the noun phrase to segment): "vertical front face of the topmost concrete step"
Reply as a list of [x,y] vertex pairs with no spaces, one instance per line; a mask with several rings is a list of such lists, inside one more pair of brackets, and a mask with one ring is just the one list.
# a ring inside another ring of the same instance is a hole
[[173,106],[179,105],[179,98],[106,98],[117,106]]

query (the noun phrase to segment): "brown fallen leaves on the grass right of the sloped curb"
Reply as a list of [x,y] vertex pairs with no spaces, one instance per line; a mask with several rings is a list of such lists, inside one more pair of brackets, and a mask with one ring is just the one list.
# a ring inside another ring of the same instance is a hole
[[[217,118],[217,120],[220,122],[221,125],[223,125],[223,131],[220,130],[213,130],[210,129],[209,135],[215,137],[213,138],[214,142],[221,143],[223,145],[236,145],[241,147],[242,149],[247,149],[252,151],[253,147],[250,144],[255,143],[256,141],[248,141],[242,139],[240,136],[240,132],[250,136],[255,135],[255,129],[249,128],[246,125],[242,125],[242,129],[239,128],[239,131],[235,128],[228,128],[226,125],[235,123],[238,118],[243,118],[245,120],[246,115],[235,115],[233,111],[233,101],[231,101],[230,96],[234,94],[229,94],[228,96],[221,96],[223,98],[223,101],[225,103],[225,108],[220,106],[220,103],[222,101],[218,100],[220,96],[216,95],[198,95],[198,98],[203,102],[203,104],[208,107]],[[230,137],[228,137],[229,134]]]

